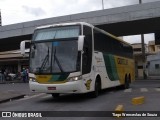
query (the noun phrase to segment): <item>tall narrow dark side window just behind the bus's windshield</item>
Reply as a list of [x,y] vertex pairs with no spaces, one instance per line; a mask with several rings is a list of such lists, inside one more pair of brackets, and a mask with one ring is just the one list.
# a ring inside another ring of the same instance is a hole
[[82,74],[90,73],[92,64],[92,28],[84,27],[84,46],[82,56]]

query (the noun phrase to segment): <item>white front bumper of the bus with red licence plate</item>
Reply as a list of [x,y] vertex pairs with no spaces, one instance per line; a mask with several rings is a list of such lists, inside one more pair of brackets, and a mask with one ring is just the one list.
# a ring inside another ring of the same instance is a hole
[[85,93],[86,87],[82,80],[66,82],[63,84],[42,84],[29,81],[32,92],[41,93]]

